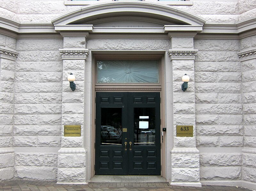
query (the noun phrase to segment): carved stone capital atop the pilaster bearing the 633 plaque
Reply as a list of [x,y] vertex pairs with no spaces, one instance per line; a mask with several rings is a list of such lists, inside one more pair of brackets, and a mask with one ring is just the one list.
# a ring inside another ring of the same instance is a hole
[[195,60],[197,52],[198,50],[169,50],[168,55],[169,57],[171,57],[171,60],[174,60],[174,59]]

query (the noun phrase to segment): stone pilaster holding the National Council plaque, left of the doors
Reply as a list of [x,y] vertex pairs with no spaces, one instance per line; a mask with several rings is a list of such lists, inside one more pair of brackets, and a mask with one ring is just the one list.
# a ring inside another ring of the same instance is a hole
[[[58,151],[58,183],[86,183],[84,149],[85,37],[64,37],[61,148]],[[68,75],[76,76],[76,90],[69,87]],[[64,137],[64,125],[81,125],[80,137]]]

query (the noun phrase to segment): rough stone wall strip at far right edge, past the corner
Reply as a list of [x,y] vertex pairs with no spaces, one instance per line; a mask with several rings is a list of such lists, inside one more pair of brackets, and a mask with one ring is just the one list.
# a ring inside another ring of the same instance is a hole
[[[251,53],[243,52],[252,50]],[[244,149],[242,150],[242,178],[256,182],[256,36],[241,39],[240,57],[243,80]],[[254,50],[254,51],[253,51]]]

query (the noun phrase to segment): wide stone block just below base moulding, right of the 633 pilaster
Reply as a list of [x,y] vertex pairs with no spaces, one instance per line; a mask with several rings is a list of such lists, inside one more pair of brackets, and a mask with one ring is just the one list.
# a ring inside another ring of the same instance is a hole
[[241,166],[241,153],[200,153],[200,166]]

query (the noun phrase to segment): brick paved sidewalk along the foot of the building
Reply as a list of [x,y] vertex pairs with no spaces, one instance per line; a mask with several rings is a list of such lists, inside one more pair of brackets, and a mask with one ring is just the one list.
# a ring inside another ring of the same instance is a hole
[[90,182],[87,185],[56,184],[56,181],[13,180],[0,182],[0,190],[87,190],[87,191],[250,191],[242,187],[202,186],[183,187],[171,186],[168,182]]

